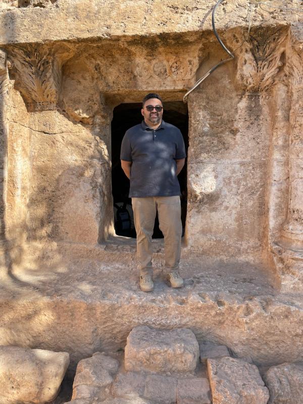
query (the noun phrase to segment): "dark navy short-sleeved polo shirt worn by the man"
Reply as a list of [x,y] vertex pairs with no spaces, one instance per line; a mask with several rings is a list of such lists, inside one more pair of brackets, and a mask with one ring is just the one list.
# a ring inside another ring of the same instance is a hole
[[145,121],[128,129],[121,144],[121,160],[131,161],[130,197],[180,195],[176,161],[184,159],[182,133],[162,120],[155,130]]

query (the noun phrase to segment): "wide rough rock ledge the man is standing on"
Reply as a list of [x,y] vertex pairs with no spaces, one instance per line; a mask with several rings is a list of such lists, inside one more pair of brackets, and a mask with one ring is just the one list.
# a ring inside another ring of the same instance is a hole
[[277,293],[259,266],[193,257],[181,262],[184,287],[172,289],[159,261],[155,289],[144,293],[133,259],[84,250],[74,259],[54,247],[0,274],[1,345],[69,352],[74,370],[93,352],[123,350],[135,326],[149,326],[188,328],[199,343],[258,365],[303,360],[303,299]]

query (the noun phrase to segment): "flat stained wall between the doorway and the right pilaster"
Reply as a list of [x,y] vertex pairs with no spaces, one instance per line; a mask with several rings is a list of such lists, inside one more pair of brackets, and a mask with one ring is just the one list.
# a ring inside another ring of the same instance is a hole
[[189,111],[188,242],[206,255],[260,254],[271,136],[263,99],[241,94],[229,66],[190,96]]

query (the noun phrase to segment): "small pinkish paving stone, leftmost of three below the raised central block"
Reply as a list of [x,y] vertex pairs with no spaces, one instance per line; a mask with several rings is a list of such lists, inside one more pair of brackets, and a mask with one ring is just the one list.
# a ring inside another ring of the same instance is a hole
[[112,385],[112,394],[124,398],[143,396],[145,378],[145,375],[141,373],[119,373]]

